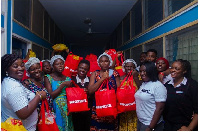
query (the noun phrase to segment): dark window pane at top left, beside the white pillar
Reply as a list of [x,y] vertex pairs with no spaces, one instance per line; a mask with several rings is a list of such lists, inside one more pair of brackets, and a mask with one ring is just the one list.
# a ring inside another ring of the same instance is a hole
[[15,0],[14,19],[30,28],[31,0]]

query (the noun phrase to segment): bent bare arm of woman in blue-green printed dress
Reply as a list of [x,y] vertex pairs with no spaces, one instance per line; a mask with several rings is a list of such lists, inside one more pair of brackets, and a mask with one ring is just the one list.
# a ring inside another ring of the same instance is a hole
[[60,92],[65,86],[68,87],[70,86],[70,84],[71,84],[71,81],[65,81],[55,91],[53,91],[48,77],[46,76],[44,77],[44,86],[53,99],[55,99],[60,94]]

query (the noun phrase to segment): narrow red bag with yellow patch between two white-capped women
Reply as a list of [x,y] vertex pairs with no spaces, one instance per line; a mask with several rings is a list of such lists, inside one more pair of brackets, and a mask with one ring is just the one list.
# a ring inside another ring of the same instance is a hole
[[124,62],[123,53],[119,54],[119,58],[118,57],[116,58],[115,70],[119,73],[120,76],[124,76],[126,73],[122,70],[122,64]]

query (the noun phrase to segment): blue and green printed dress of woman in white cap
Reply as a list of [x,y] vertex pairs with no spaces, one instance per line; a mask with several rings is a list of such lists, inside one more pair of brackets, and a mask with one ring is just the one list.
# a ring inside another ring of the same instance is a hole
[[[60,84],[64,81],[55,81],[53,78],[47,74],[49,82],[52,86],[52,91],[55,91]],[[65,81],[70,81],[71,79],[67,77]],[[61,93],[53,100],[53,109],[56,114],[56,124],[60,131],[73,131],[72,116],[67,115],[67,99],[65,88],[62,89]]]

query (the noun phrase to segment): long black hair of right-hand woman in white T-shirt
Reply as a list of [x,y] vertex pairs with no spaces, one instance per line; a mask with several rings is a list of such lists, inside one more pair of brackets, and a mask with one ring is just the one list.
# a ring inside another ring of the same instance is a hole
[[158,71],[154,62],[145,61],[142,65],[146,67],[146,74],[149,77],[150,81],[158,80]]

